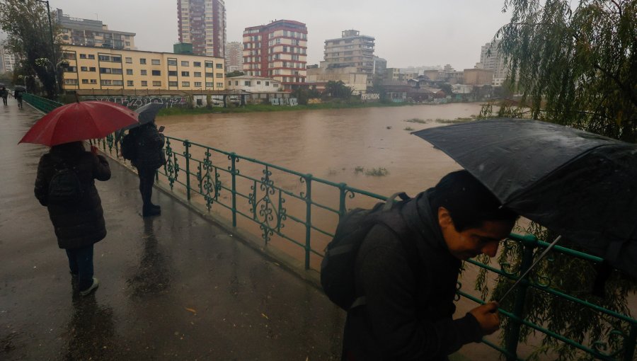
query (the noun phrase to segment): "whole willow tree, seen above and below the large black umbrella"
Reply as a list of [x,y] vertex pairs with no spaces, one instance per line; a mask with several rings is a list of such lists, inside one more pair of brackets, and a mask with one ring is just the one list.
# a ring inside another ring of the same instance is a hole
[[[498,116],[526,116],[636,142],[637,1],[505,0],[505,10],[510,11],[511,20],[500,28],[496,38],[500,38],[500,55],[510,64],[510,83],[505,86],[521,93],[522,103],[503,103]],[[492,116],[491,105],[483,105],[481,117]],[[539,224],[530,224],[525,231],[547,241],[556,237]],[[579,249],[566,239],[561,245]],[[523,252],[522,247],[510,244],[503,247],[498,262],[515,271],[520,268]],[[547,257],[530,275],[532,280],[560,292],[630,314],[627,297],[637,291],[634,280],[613,273],[606,294],[599,296],[590,292],[596,276],[591,263],[560,253]],[[476,285],[483,297],[490,294],[490,298],[499,299],[511,283],[507,277],[498,277],[490,290],[482,271]],[[512,309],[513,297],[501,306]],[[627,323],[534,287],[528,290],[523,317],[578,343],[600,341],[606,348],[604,353],[616,353],[615,357],[621,358],[621,350],[629,345],[626,338],[615,337],[617,331],[629,334]],[[512,330],[517,326],[515,321],[503,318],[505,344],[514,337]],[[534,332],[527,326],[520,331],[520,342]],[[556,360],[582,357],[577,349],[550,336],[541,340],[531,359],[544,353],[551,353],[551,359]]]

